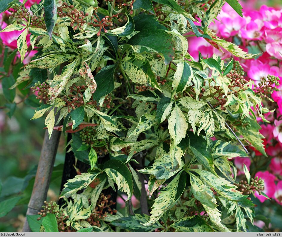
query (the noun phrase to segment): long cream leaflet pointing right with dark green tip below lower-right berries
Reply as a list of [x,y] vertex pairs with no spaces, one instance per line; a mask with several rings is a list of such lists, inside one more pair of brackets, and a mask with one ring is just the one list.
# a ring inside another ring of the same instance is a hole
[[193,170],[198,173],[207,184],[214,188],[221,196],[224,198],[237,202],[238,206],[241,207],[254,207],[255,205],[252,201],[248,200],[246,195],[242,195],[241,192],[236,190],[237,186],[231,184],[224,178],[217,177],[209,171],[206,170]]

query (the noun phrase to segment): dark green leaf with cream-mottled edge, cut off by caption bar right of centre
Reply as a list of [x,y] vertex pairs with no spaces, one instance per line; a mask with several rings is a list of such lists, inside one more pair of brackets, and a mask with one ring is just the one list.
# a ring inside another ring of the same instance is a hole
[[188,216],[175,221],[169,228],[172,227],[176,232],[214,232],[206,221],[200,216]]

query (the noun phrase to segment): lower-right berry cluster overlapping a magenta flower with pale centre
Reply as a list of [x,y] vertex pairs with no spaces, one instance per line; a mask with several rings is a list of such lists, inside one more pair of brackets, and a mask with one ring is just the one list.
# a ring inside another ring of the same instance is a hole
[[247,181],[241,180],[237,186],[243,195],[250,195],[255,191],[258,191],[259,195],[261,195],[261,191],[264,189],[264,181],[261,178],[255,177],[255,179],[251,178],[250,184]]

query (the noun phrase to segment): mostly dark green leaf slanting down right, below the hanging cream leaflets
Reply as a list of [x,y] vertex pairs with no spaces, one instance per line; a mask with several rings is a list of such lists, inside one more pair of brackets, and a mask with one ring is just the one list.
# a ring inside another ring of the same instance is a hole
[[190,139],[189,149],[194,153],[197,161],[203,165],[207,170],[216,175],[214,171],[214,159],[212,157],[212,149],[210,147],[206,148],[206,140],[201,137],[194,135],[192,132],[187,132]]

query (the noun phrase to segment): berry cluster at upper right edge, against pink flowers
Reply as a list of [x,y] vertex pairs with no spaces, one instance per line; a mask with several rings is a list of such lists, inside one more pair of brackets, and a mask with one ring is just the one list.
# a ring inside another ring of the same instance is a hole
[[269,97],[273,91],[279,91],[279,77],[267,75],[266,78],[262,78],[258,85],[255,84],[255,93],[263,97]]

